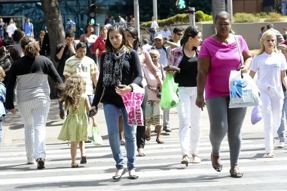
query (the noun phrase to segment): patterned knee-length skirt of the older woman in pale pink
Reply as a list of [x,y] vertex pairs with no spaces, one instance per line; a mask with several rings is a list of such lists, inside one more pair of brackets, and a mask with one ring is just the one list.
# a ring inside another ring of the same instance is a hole
[[160,108],[160,101],[148,100],[146,105],[146,127],[151,125],[162,125],[163,111]]

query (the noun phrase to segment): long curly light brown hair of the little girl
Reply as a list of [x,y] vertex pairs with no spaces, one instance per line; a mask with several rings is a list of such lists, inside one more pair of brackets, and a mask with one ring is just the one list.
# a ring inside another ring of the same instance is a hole
[[64,84],[59,85],[61,90],[60,101],[65,102],[65,109],[72,106],[74,111],[79,109],[82,101],[83,83],[78,76],[72,76]]

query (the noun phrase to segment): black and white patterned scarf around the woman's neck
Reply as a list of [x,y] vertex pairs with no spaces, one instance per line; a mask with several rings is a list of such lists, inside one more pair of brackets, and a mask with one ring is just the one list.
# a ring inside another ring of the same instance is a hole
[[[119,52],[115,52],[112,48],[106,53],[103,66],[103,87],[119,85],[122,81],[123,59],[127,53],[127,48],[123,48]],[[115,66],[113,64],[115,60]]]

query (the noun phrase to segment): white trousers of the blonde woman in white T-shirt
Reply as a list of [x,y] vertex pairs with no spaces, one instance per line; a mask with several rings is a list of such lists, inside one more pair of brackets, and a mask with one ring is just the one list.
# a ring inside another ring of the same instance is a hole
[[265,90],[261,92],[260,99],[264,121],[265,151],[269,153],[274,151],[273,139],[281,123],[283,98],[278,97],[272,90]]

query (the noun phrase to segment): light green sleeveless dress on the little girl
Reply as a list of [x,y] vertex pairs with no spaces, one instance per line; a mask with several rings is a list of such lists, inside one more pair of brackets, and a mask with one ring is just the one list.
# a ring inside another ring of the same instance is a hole
[[85,105],[86,95],[82,95],[82,101],[79,105],[79,109],[74,111],[69,106],[69,114],[64,121],[60,134],[59,140],[81,142],[88,141],[88,116],[86,114]]

